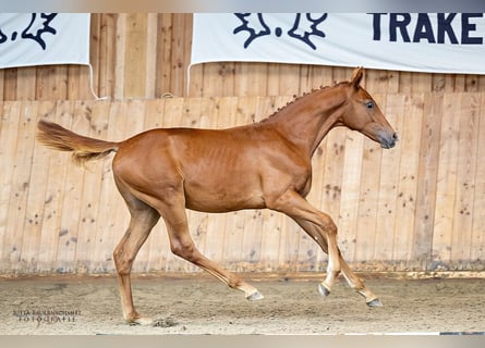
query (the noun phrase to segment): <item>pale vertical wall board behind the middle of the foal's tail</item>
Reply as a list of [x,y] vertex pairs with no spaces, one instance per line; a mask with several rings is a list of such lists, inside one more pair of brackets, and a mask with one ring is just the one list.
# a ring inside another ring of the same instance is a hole
[[[73,114],[70,116],[71,125],[63,124],[63,126],[78,134],[88,134],[90,112],[84,101],[74,102]],[[60,273],[76,272],[76,251],[81,252],[78,248],[86,247],[84,244],[77,246],[80,220],[83,219],[82,194],[85,172],[86,169],[69,163],[57,254],[57,271]]]

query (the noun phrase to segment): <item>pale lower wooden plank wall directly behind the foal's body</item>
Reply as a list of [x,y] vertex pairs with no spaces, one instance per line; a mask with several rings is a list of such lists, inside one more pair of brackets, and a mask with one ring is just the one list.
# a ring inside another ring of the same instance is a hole
[[[308,200],[330,213],[356,270],[483,270],[485,94],[376,95],[401,140],[395,149],[334,129],[316,151]],[[37,144],[36,121],[119,140],[159,126],[258,121],[291,97],[3,101],[0,103],[0,273],[113,271],[129,220],[110,160],[73,165]],[[233,271],[325,271],[326,256],[268,210],[190,212],[198,248]],[[195,271],[173,257],[159,223],[137,272]]]

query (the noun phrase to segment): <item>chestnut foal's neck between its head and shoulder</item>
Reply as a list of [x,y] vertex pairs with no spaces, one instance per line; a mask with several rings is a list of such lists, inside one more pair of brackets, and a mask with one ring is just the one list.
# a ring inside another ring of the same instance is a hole
[[344,112],[347,96],[343,85],[313,91],[281,109],[268,124],[311,158]]

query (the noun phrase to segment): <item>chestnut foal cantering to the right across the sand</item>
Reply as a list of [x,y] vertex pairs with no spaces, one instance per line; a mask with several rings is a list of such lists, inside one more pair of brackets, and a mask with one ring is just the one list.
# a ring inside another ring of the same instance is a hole
[[268,208],[293,219],[328,253],[327,275],[318,289],[328,296],[343,273],[368,306],[381,306],[342,259],[337,226],[305,197],[312,186],[312,156],[336,126],[355,129],[389,149],[398,136],[376,102],[360,86],[363,69],[352,79],[314,90],[259,123],[228,129],[158,128],[123,141],[77,135],[39,121],[38,139],[72,151],[83,163],[116,152],[114,183],[131,213],[130,225],[114,249],[123,316],[147,324],[133,304],[130,272],[135,257],[161,216],[171,251],[216,276],[250,300],[259,291],[205,258],[191,238],[185,209],[221,213]]

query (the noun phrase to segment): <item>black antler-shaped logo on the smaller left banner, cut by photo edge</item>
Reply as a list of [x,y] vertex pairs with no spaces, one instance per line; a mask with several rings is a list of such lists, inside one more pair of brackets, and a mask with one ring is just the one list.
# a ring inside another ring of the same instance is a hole
[[25,23],[25,27],[19,28],[11,33],[4,33],[3,28],[0,28],[0,45],[9,41],[16,41],[19,39],[19,32],[21,32],[21,39],[34,40],[43,50],[46,50],[47,45],[43,35],[51,34],[56,35],[57,30],[51,26],[52,20],[57,16],[57,13],[31,13],[31,22]]

